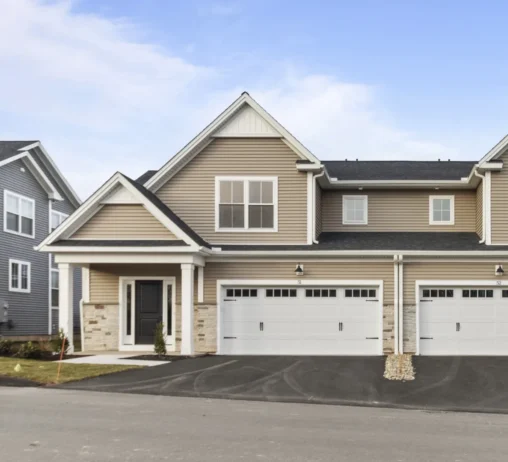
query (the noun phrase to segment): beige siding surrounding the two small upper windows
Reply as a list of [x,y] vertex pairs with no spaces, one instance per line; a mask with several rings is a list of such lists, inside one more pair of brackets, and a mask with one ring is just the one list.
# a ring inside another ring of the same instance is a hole
[[[368,196],[368,225],[342,224],[342,195]],[[455,225],[429,224],[429,196],[455,196]],[[475,232],[476,191],[323,191],[323,231]]]

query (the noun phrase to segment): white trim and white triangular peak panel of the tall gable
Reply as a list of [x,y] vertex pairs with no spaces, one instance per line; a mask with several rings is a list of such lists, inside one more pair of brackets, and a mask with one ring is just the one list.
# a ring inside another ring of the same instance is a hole
[[[229,122],[232,124],[230,125]],[[226,130],[226,132],[235,130],[239,130],[240,132],[242,130],[267,130],[272,133],[267,136],[273,137],[275,136],[274,134],[278,134],[277,137],[282,138],[282,141],[287,144],[301,159],[320,164],[319,160],[302,143],[300,143],[279,122],[268,114],[268,112],[266,112],[253,98],[251,98],[247,92],[244,92],[210,125],[201,131],[169,162],[161,167],[161,169],[146,182],[145,187],[152,192],[156,192],[164,183],[166,183],[208,144],[210,144],[213,141],[214,136],[217,134],[219,134],[219,136],[226,136],[225,132],[222,130]],[[236,134],[234,136],[240,135]],[[261,135],[258,133],[257,136]]]

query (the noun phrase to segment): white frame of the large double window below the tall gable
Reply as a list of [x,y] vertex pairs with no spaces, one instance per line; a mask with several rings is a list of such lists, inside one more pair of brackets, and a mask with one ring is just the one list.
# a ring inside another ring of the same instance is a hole
[[[243,182],[244,227],[220,228],[219,203],[221,181]],[[273,183],[273,228],[249,228],[249,183],[265,181]],[[276,176],[216,176],[215,177],[215,231],[218,233],[276,233],[279,230],[279,178]]]

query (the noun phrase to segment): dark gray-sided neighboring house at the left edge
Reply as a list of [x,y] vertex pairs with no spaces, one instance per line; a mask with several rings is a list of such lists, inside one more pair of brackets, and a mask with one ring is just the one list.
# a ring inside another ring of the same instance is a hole
[[35,247],[80,200],[39,141],[0,141],[0,195],[0,336],[44,338],[58,332],[58,267]]

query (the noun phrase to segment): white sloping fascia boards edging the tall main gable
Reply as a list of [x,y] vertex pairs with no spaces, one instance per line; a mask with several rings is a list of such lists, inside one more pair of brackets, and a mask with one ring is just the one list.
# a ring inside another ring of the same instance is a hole
[[195,138],[186,144],[173,158],[163,165],[159,171],[150,178],[145,187],[152,192],[157,191],[165,182],[166,177],[175,169],[176,171],[185,165],[184,158],[188,155],[197,155],[199,151],[211,142],[213,133],[244,105],[248,104],[262,117],[275,131],[280,133],[284,142],[290,146],[296,154],[302,159],[310,160],[313,163],[320,164],[320,161],[293,135],[291,135],[279,122],[277,122],[268,112],[266,112],[249,94],[242,93],[229,107],[227,107],[214,121],[212,121]]

